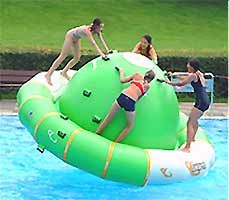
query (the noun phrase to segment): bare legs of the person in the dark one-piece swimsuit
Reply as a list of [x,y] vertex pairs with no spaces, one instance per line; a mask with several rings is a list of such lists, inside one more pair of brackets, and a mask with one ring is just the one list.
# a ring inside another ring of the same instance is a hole
[[[197,108],[193,108],[188,122],[187,122],[187,142],[182,149],[184,152],[190,152],[191,142],[195,139],[196,131],[198,129],[198,119],[203,115],[203,112]],[[197,127],[196,127],[197,125]]]

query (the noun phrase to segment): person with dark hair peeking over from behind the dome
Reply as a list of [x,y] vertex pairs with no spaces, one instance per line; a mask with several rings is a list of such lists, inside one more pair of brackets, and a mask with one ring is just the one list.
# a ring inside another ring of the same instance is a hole
[[133,53],[139,53],[147,58],[151,59],[155,64],[157,64],[157,53],[152,46],[152,37],[150,35],[144,35],[141,41],[136,44]]

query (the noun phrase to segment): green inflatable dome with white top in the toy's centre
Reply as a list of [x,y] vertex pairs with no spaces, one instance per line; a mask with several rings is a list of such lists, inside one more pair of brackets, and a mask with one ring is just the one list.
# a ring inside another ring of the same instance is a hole
[[[122,84],[115,66],[124,69],[125,76],[152,69],[156,78],[163,78],[162,70],[150,60],[133,53],[116,53],[109,61],[97,58],[87,63],[68,84],[59,101],[60,110],[82,128],[95,132],[114,100],[129,83]],[[172,87],[156,81],[136,104],[135,126],[121,143],[141,148],[174,149],[179,120],[176,95]],[[85,93],[90,93],[86,96]],[[125,127],[125,112],[119,112],[102,135],[115,140]]]

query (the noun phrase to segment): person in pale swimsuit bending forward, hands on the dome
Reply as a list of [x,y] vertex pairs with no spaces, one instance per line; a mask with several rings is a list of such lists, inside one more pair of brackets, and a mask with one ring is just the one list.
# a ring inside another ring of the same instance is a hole
[[71,59],[67,65],[64,67],[61,74],[68,80],[71,78],[68,76],[67,71],[68,69],[72,68],[79,60],[80,60],[80,44],[81,44],[81,38],[87,37],[90,41],[90,43],[94,46],[96,51],[99,53],[99,55],[103,58],[103,60],[107,61],[109,60],[108,57],[100,50],[98,45],[96,44],[93,35],[97,34],[104,49],[106,52],[109,52],[109,49],[103,39],[102,36],[102,29],[104,24],[99,18],[96,18],[93,20],[93,23],[91,25],[82,25],[79,27],[75,27],[71,30],[69,30],[65,35],[64,45],[60,52],[60,55],[56,58],[56,60],[53,62],[52,66],[48,70],[48,72],[45,75],[45,78],[48,82],[48,84],[52,85],[51,82],[51,76],[53,72],[57,69],[57,67],[61,64],[61,62],[67,57],[69,49],[72,47],[74,57]]

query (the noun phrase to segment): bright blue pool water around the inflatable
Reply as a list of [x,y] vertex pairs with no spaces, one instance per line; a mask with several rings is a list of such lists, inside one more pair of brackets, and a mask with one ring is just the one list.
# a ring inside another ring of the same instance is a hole
[[200,120],[215,146],[216,163],[205,177],[144,188],[105,181],[73,168],[36,143],[17,116],[0,116],[0,199],[226,200],[228,120]]

